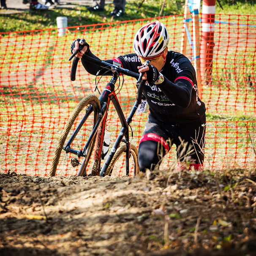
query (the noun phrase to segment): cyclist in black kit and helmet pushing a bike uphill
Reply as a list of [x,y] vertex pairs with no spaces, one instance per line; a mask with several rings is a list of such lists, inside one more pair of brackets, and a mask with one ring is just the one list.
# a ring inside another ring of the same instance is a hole
[[[71,44],[78,49],[79,39]],[[196,72],[183,54],[168,51],[169,34],[163,23],[151,22],[141,27],[133,40],[133,54],[106,60],[119,63],[133,72],[145,72],[144,96],[149,116],[139,143],[139,168],[153,170],[163,156],[176,145],[181,169],[202,169],[205,144],[205,105],[198,97]],[[84,54],[98,58],[89,44],[76,54],[87,72],[101,69],[83,60]],[[149,66],[144,66],[150,60]],[[103,72],[102,72],[103,74]],[[110,74],[110,73],[109,73]],[[112,73],[111,73],[112,74]]]

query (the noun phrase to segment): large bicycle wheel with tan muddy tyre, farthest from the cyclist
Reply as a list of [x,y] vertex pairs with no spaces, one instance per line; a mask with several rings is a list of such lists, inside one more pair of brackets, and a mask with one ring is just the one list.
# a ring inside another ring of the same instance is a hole
[[[85,109],[85,111],[83,111]],[[80,121],[84,117],[86,112],[90,112],[87,120],[78,131],[74,141],[71,143],[71,148],[80,151],[84,148],[91,132],[98,120],[98,110],[100,109],[100,102],[94,95],[88,95],[83,98],[66,123],[63,132],[60,136],[60,140],[57,144],[54,158],[52,160],[52,166],[50,170],[50,176],[60,175],[79,175],[83,176],[86,173],[87,165],[92,155],[93,147],[95,144],[96,135],[93,137],[90,145],[87,147],[85,157],[79,158],[75,154],[66,153],[63,150],[64,144],[67,143],[74,130],[79,125]]]

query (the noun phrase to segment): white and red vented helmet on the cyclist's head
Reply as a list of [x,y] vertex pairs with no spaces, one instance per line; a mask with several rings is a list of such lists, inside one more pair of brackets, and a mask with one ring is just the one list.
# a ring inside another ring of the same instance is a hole
[[143,58],[158,56],[169,43],[168,31],[159,21],[141,27],[133,40],[134,52]]

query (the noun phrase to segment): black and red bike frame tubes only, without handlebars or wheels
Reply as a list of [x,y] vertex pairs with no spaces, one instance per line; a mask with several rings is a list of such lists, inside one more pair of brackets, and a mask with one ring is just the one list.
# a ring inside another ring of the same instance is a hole
[[[119,147],[120,143],[122,142],[123,138],[125,137],[125,144],[126,144],[126,156],[125,156],[125,167],[126,167],[126,175],[129,174],[129,157],[130,157],[130,142],[129,142],[129,125],[131,124],[132,118],[136,112],[136,109],[139,106],[138,101],[136,101],[131,109],[130,114],[127,118],[125,118],[123,114],[123,110],[120,106],[120,103],[117,99],[117,95],[114,91],[115,89],[115,83],[118,79],[118,73],[116,70],[112,70],[113,76],[111,81],[106,85],[104,90],[102,91],[101,95],[99,96],[99,101],[101,103],[101,109],[98,112],[98,121],[93,128],[93,131],[85,144],[84,148],[80,151],[74,150],[71,148],[71,144],[74,141],[77,133],[82,128],[82,125],[84,125],[85,121],[87,120],[90,113],[93,111],[92,106],[89,107],[89,109],[86,110],[86,114],[84,115],[83,119],[77,126],[74,133],[71,135],[71,138],[68,140],[68,143],[63,147],[66,153],[73,153],[77,155],[78,157],[85,157],[85,151],[87,147],[89,146],[90,142],[96,136],[95,141],[95,151],[94,151],[94,160],[93,160],[93,169],[92,169],[92,175],[100,175],[104,176],[107,168],[109,167],[109,164],[114,157],[114,153],[116,152],[117,148]],[[105,134],[105,127],[106,127],[106,119],[107,119],[107,113],[109,109],[109,102],[112,101],[114,108],[117,111],[120,123],[122,125],[122,128],[120,129],[120,133],[117,136],[117,139],[114,142],[114,145],[112,149],[110,150],[109,156],[106,159],[105,163],[103,164],[102,168],[101,166],[101,155],[102,155],[102,147],[103,147],[103,141],[104,141],[104,134]]]

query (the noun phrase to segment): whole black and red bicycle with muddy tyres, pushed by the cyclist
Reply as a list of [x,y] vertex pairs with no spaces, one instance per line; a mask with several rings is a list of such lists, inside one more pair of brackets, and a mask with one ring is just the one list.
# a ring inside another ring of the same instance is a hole
[[[79,42],[79,49],[82,49],[83,41]],[[71,60],[75,56],[76,52],[72,54],[69,58]],[[112,78],[106,87],[103,89],[101,95],[96,97],[95,95],[88,95],[83,98],[74,111],[71,113],[71,116],[66,123],[63,132],[60,136],[60,140],[57,144],[57,148],[54,153],[54,158],[52,160],[52,166],[50,170],[50,176],[55,176],[57,170],[64,169],[67,172],[67,166],[72,166],[73,168],[78,169],[77,166],[80,165],[78,171],[76,171],[77,176],[87,176],[87,175],[116,175],[114,166],[120,165],[120,161],[125,156],[125,170],[120,171],[121,175],[137,175],[139,173],[139,163],[138,163],[138,150],[135,145],[131,144],[129,141],[129,127],[133,119],[136,110],[138,109],[140,103],[142,102],[142,90],[145,84],[145,81],[142,80],[143,74],[140,75],[129,71],[125,68],[122,68],[115,64],[110,64],[102,60],[94,59],[90,56],[85,55],[84,60],[97,64],[101,66],[104,70],[112,72]],[[74,57],[72,67],[71,67],[71,80],[76,79],[76,68],[79,58]],[[149,61],[145,65],[149,65]],[[106,73],[106,72],[105,72]],[[127,76],[132,76],[137,79],[136,85],[138,87],[136,101],[131,109],[130,114],[125,118],[123,110],[118,101],[117,95],[115,93],[115,84],[120,74]],[[96,84],[97,87],[97,84]],[[122,128],[117,136],[117,139],[114,142],[112,149],[101,167],[101,160],[103,155],[103,143],[104,143],[104,134],[106,128],[107,113],[109,109],[109,103],[112,101],[114,108],[117,111],[119,120],[121,122]],[[82,114],[82,117],[79,114],[82,110],[85,109],[85,114]],[[81,120],[80,120],[81,119]],[[76,126],[79,121],[79,125]],[[68,134],[71,131],[72,126],[75,126],[74,132],[72,132],[68,142],[65,141],[68,137]],[[90,133],[87,131],[90,130]],[[79,141],[77,146],[74,141]],[[120,143],[124,142],[124,145],[120,146]],[[65,144],[65,146],[64,146]],[[76,147],[76,148],[75,148]],[[78,147],[78,148],[77,148]],[[66,155],[63,161],[60,161],[60,155],[62,151],[65,151]],[[94,150],[94,153],[93,153]],[[76,155],[76,157],[70,157],[68,154]],[[87,174],[87,166],[90,161],[91,156],[93,155],[93,164],[91,173]],[[82,163],[79,159],[82,158]],[[131,160],[131,163],[130,163]],[[122,163],[123,165],[123,163]],[[130,167],[133,166],[133,171]],[[125,173],[123,173],[125,172]]]

